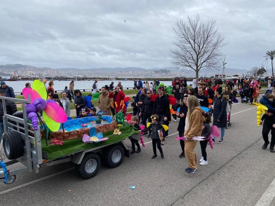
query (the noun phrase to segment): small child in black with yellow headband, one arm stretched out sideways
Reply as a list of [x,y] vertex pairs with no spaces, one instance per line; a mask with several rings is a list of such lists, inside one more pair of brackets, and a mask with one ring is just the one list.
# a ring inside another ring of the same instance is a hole
[[[163,133],[165,132],[165,130],[162,127],[162,124],[159,122],[159,115],[154,114],[154,115],[151,116],[151,119],[152,119],[152,124],[150,124],[149,127],[141,130],[141,132],[147,132],[150,129],[152,129],[151,139],[152,139],[152,144],[153,144],[154,155],[151,159],[154,160],[158,157],[157,156],[157,148],[159,149],[160,156],[163,159],[164,155],[163,155],[163,151],[162,151],[162,148],[161,148],[161,140],[164,138]],[[156,144],[157,144],[157,148],[156,148]]]

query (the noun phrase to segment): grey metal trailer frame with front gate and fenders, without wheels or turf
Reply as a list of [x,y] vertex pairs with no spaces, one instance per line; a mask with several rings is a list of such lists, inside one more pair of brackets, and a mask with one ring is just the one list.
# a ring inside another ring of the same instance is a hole
[[[73,162],[79,165],[82,162],[83,158],[85,157],[86,153],[89,153],[89,152],[99,153],[106,147],[109,147],[110,145],[121,145],[124,149],[124,156],[130,157],[129,155],[130,148],[128,148],[125,142],[121,140],[112,144],[107,144],[107,145],[95,147],[92,149],[79,150],[77,152],[68,154],[64,157],[60,157],[56,160],[49,161],[47,160],[47,152],[42,152],[42,145],[41,145],[42,139],[40,134],[40,126],[38,125],[36,131],[30,130],[30,128],[32,127],[32,124],[28,123],[27,113],[26,113],[26,104],[30,103],[30,100],[16,99],[16,98],[10,98],[10,97],[0,97],[0,99],[2,99],[3,107],[4,107],[4,116],[3,116],[4,134],[9,131],[16,131],[20,134],[24,144],[24,154],[21,157],[15,160],[9,160],[5,162],[6,166],[13,165],[17,162],[20,162],[24,165],[24,167],[15,169],[15,170],[9,170],[9,176],[18,175],[23,172],[38,173],[39,168],[58,165],[65,162]],[[30,99],[30,96],[28,97],[28,99]],[[19,117],[14,117],[6,113],[6,100],[22,103],[24,119],[21,119]],[[30,136],[29,134],[32,134],[34,137]],[[4,172],[0,171],[0,179],[2,178],[4,178]]]

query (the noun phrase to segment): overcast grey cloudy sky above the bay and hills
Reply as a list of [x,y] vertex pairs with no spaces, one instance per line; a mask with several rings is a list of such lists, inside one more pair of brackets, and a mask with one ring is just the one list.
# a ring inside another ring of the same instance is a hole
[[174,21],[195,14],[217,20],[229,68],[249,70],[275,49],[274,0],[6,0],[0,64],[169,67]]

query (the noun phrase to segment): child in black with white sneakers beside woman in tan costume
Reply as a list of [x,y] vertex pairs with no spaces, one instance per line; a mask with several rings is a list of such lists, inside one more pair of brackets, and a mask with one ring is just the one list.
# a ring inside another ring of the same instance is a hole
[[206,146],[208,143],[209,136],[211,134],[211,115],[202,112],[202,118],[203,118],[203,126],[202,126],[202,137],[205,137],[204,141],[200,141],[200,149],[202,151],[202,157],[200,158],[200,165],[207,165],[207,153],[206,153]]

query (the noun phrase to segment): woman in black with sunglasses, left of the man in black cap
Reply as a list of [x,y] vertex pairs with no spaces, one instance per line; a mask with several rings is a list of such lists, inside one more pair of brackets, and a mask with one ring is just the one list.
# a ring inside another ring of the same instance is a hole
[[[139,117],[141,117],[142,115],[142,124],[144,125],[145,128],[146,128],[147,119],[148,119],[148,122],[152,122],[151,116],[152,116],[152,111],[154,107],[154,102],[151,100],[152,91],[148,89],[146,94],[147,94],[147,97],[145,97],[142,104],[141,112],[139,112]],[[147,132],[144,132],[141,136],[145,136],[147,134],[148,134]],[[148,134],[148,138],[150,137],[151,137],[151,130],[149,131],[149,134]]]

